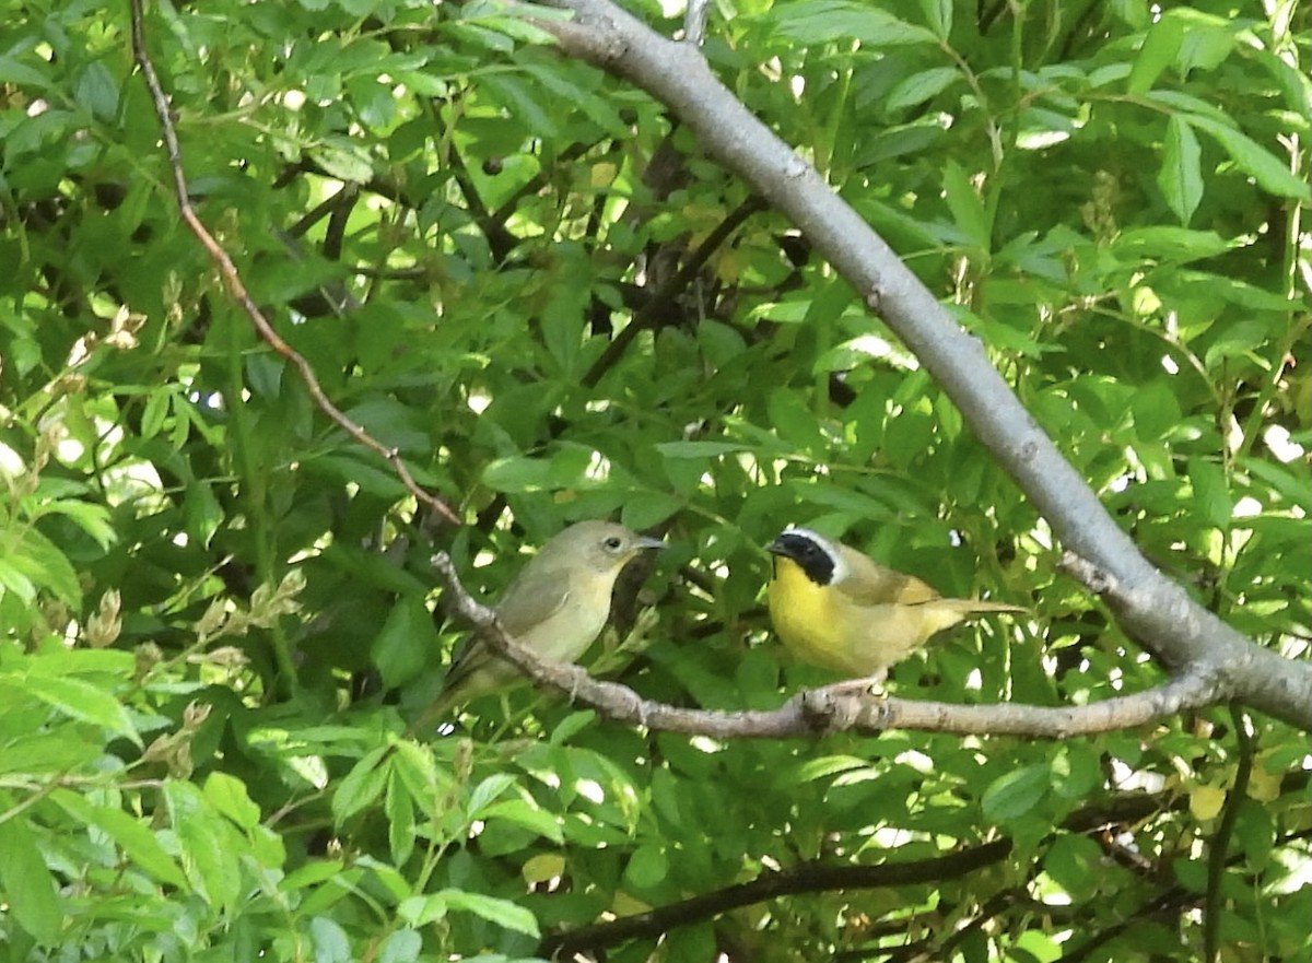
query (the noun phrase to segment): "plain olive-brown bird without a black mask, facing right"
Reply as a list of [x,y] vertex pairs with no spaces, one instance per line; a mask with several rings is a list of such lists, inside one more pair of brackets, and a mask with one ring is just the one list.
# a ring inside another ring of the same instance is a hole
[[[539,659],[572,663],[601,635],[619,571],[644,548],[665,543],[611,522],[579,522],[547,542],[496,605],[505,631]],[[451,664],[432,718],[525,677],[485,643],[471,640]]]

